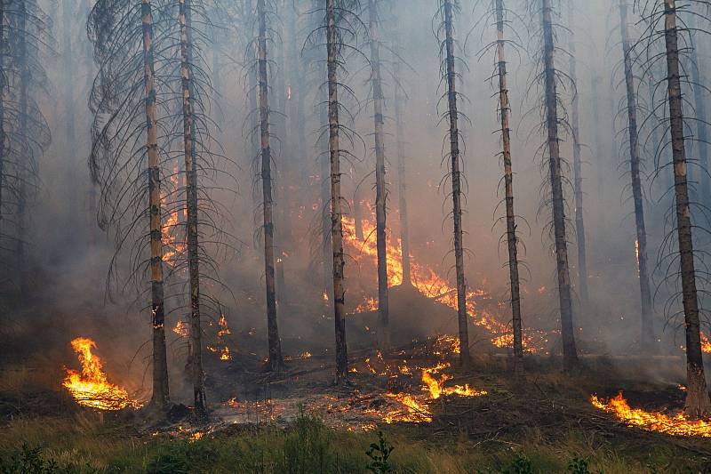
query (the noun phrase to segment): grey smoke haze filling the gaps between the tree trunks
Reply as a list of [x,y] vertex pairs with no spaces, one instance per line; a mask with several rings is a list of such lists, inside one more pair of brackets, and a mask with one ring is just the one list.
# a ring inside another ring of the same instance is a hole
[[[71,4],[69,0],[65,0]],[[291,3],[291,2],[288,2]],[[392,59],[385,62],[386,81],[386,155],[388,180],[388,227],[391,242],[399,237],[397,209],[397,175],[395,166],[395,123],[393,87],[402,84],[407,100],[404,110],[404,146],[409,194],[411,256],[419,265],[433,269],[440,277],[453,281],[453,256],[451,254],[450,201],[447,163],[443,161],[446,121],[443,120],[445,103],[441,100],[443,83],[440,78],[438,45],[432,34],[435,7],[425,0],[391,2],[392,7],[383,8],[382,36],[397,29],[401,36],[403,77],[388,76]],[[49,2],[47,2],[49,4]],[[64,2],[62,2],[64,4]],[[407,5],[404,5],[407,4]],[[78,4],[77,4],[78,6]],[[466,213],[464,215],[464,242],[467,247],[466,274],[469,288],[483,293],[477,305],[490,312],[503,324],[510,324],[508,299],[508,272],[505,240],[505,224],[501,205],[502,166],[497,116],[498,102],[491,74],[494,71],[493,53],[481,57],[477,52],[495,40],[496,30],[491,21],[479,21],[482,8],[472,9],[462,3],[456,19],[458,55],[466,61],[458,63],[459,90],[466,97],[462,100],[462,113],[469,121],[463,125],[464,175],[466,178]],[[582,309],[577,297],[579,275],[575,259],[574,226],[569,224],[569,255],[571,276],[574,284],[574,322],[582,352],[588,354],[628,354],[634,351],[640,338],[639,285],[635,261],[635,222],[633,207],[627,200],[625,185],[626,151],[620,132],[624,116],[618,116],[619,100],[624,88],[619,86],[619,61],[621,51],[611,30],[611,11],[608,4],[586,2],[579,4],[576,12],[576,33],[579,58],[578,82],[575,91],[563,91],[563,100],[570,100],[578,93],[580,106],[580,140],[583,147],[583,187],[585,192],[584,217],[586,219],[588,245],[588,275],[591,303]],[[509,8],[521,15],[525,10],[520,2],[510,2]],[[79,9],[69,25],[72,50],[68,54],[58,46],[58,52],[48,57],[47,70],[52,83],[51,93],[39,98],[45,116],[52,129],[52,145],[41,159],[39,173],[42,190],[30,206],[28,232],[28,265],[31,275],[30,292],[20,298],[10,288],[5,298],[3,339],[4,358],[21,358],[28,354],[43,352],[44,363],[53,366],[75,363],[69,341],[77,336],[92,337],[98,350],[112,366],[116,382],[124,383],[132,390],[149,391],[150,388],[150,316],[145,295],[124,279],[108,281],[108,266],[114,255],[115,229],[101,230],[96,221],[98,189],[92,185],[86,166],[90,151],[89,125],[91,116],[87,109],[87,95],[96,74],[88,57],[91,52],[84,36],[86,12]],[[50,12],[52,14],[52,12]],[[55,12],[56,13],[56,12]],[[291,8],[280,12],[282,25]],[[552,240],[548,234],[547,221],[550,211],[541,206],[541,185],[547,179],[545,167],[539,162],[539,148],[543,142],[538,129],[540,110],[536,87],[531,85],[531,76],[538,67],[532,62],[537,44],[528,38],[526,28],[531,24],[513,20],[520,43],[518,52],[510,53],[509,89],[512,103],[512,157],[515,173],[515,208],[519,217],[518,232],[524,252],[522,261],[525,278],[523,282],[523,325],[548,334],[550,350],[559,350],[559,323],[557,293],[555,289],[555,260],[551,251]],[[614,23],[614,20],[612,21]],[[284,26],[275,28],[284,28]],[[319,242],[319,226],[325,205],[321,200],[321,187],[326,177],[322,175],[320,160],[323,159],[323,143],[318,138],[323,133],[321,123],[324,106],[324,88],[321,81],[324,52],[306,44],[306,36],[313,25],[306,5],[300,7],[296,21],[295,37],[275,41],[270,47],[278,48],[280,41],[289,48],[296,41],[299,56],[287,57],[298,63],[296,71],[287,65],[274,65],[272,76],[285,71],[284,86],[287,91],[275,91],[272,108],[287,115],[288,129],[284,130],[280,118],[275,115],[276,137],[276,222],[277,256],[282,261],[283,288],[277,289],[278,318],[284,342],[285,354],[332,351],[332,309],[324,301],[324,284],[321,263],[322,242]],[[55,36],[66,32],[55,23]],[[236,29],[244,25],[228,25],[216,35],[219,44],[205,45],[203,56],[212,74],[212,108],[208,115],[215,120],[212,131],[222,149],[213,150],[228,159],[220,160],[219,173],[213,173],[209,193],[218,203],[220,230],[228,236],[228,245],[212,245],[211,235],[204,236],[204,249],[212,253],[216,262],[216,275],[220,283],[206,282],[215,297],[212,311],[206,317],[204,328],[206,345],[217,341],[217,317],[224,314],[235,341],[231,348],[235,354],[266,354],[266,312],[264,295],[264,263],[260,241],[260,189],[253,192],[255,180],[252,160],[257,157],[257,143],[250,133],[253,125],[247,89],[253,74],[252,65],[242,59],[245,50],[244,37],[249,37],[251,25],[241,34]],[[283,30],[282,30],[283,31]],[[76,34],[81,32],[82,35]],[[242,35],[242,36],[240,36]],[[513,41],[513,40],[512,40]],[[465,48],[466,43],[466,48]],[[563,42],[564,43],[564,42]],[[363,45],[359,45],[363,47]],[[528,51],[527,51],[528,50]],[[287,55],[291,54],[286,50]],[[389,52],[387,53],[389,54]],[[384,55],[387,55],[384,52]],[[276,58],[276,53],[270,55]],[[388,56],[389,58],[389,56]],[[63,61],[70,60],[72,68],[61,68]],[[353,120],[348,126],[359,133],[362,141],[354,141],[349,147],[352,157],[344,163],[344,197],[348,199],[348,213],[354,213],[352,199],[360,182],[363,199],[363,219],[374,222],[372,215],[375,202],[372,171],[375,157],[372,152],[372,110],[368,103],[370,69],[363,57],[347,55],[349,74],[345,77],[348,87],[355,92],[358,101],[349,98],[344,104]],[[567,58],[561,52],[557,58],[559,67],[567,68]],[[67,76],[70,73],[71,76]],[[298,75],[298,76],[294,76]],[[597,79],[599,81],[595,82]],[[219,80],[218,80],[219,79]],[[272,87],[276,87],[273,83]],[[642,87],[642,86],[641,86]],[[73,99],[68,103],[71,114],[64,108],[64,91],[70,90]],[[249,91],[254,93],[253,91]],[[293,92],[293,93],[292,93]],[[299,97],[298,94],[302,95]],[[641,94],[643,91],[641,90]],[[281,95],[280,95],[281,94]],[[281,97],[281,100],[279,99]],[[293,103],[300,100],[300,108]],[[285,110],[279,110],[285,107]],[[301,116],[293,116],[300,110]],[[290,115],[292,114],[292,115]],[[76,139],[68,141],[67,117],[74,117]],[[616,118],[617,117],[617,118]],[[219,127],[219,128],[217,128]],[[297,134],[302,131],[303,136]],[[303,145],[300,144],[300,140]],[[563,139],[563,154],[571,159],[571,137]],[[302,148],[303,147],[303,148]],[[651,151],[644,149],[647,170],[653,168]],[[619,165],[622,160],[621,165]],[[288,165],[288,166],[287,166]],[[284,172],[288,170],[288,173]],[[563,170],[571,179],[571,170]],[[664,212],[668,196],[664,197],[651,181],[644,181],[648,193],[647,209],[651,240],[650,255],[656,253],[662,241]],[[572,195],[566,187],[568,207],[566,213],[572,218]],[[659,204],[661,200],[661,204]],[[255,219],[255,215],[258,216]],[[284,217],[287,216],[287,217]],[[288,234],[280,233],[280,224],[288,219]],[[255,234],[256,233],[256,234]],[[374,239],[373,235],[366,238]],[[256,241],[256,242],[255,242]],[[314,250],[316,249],[316,251]],[[367,299],[377,288],[374,268],[367,259],[358,259],[356,247],[347,248],[347,305],[353,309]],[[11,258],[8,255],[7,258]],[[126,266],[119,261],[119,266]],[[277,271],[281,271],[277,268]],[[12,276],[11,276],[12,277]],[[278,277],[278,276],[277,276]],[[660,276],[655,274],[655,281]],[[148,280],[140,273],[143,290]],[[107,286],[107,281],[109,285]],[[185,291],[185,285],[175,288]],[[433,335],[439,328],[452,332],[450,321],[453,314],[443,305],[432,309],[435,320],[421,308],[413,308],[407,294],[395,293],[392,305],[395,331],[408,337]],[[404,295],[404,296],[403,296]],[[331,295],[329,295],[331,296]],[[142,299],[141,299],[142,298]],[[331,296],[332,298],[332,296]],[[399,300],[398,300],[399,298]],[[411,298],[416,296],[411,295]],[[666,293],[659,293],[655,301],[654,322],[661,340],[660,352],[682,354],[683,338],[677,341],[674,324],[666,325],[663,303]],[[177,304],[177,303],[176,303]],[[434,307],[433,307],[434,308]],[[172,328],[182,319],[186,309],[166,308],[168,311],[167,333],[169,334],[169,367],[171,367],[172,391],[189,399],[187,341],[173,333]],[[419,314],[418,314],[419,313]],[[211,324],[212,323],[212,324]],[[372,315],[348,317],[349,342],[356,347],[371,344],[371,336],[365,327],[375,325]],[[456,326],[455,326],[456,327]],[[352,339],[350,339],[352,337]],[[489,350],[490,334],[483,326],[476,326],[474,336],[484,341],[482,348]],[[246,342],[245,342],[246,341]],[[475,349],[479,342],[475,344]],[[488,345],[487,345],[488,344]],[[669,364],[675,364],[669,363]],[[681,366],[681,365],[680,365]],[[147,375],[148,374],[148,375]]]

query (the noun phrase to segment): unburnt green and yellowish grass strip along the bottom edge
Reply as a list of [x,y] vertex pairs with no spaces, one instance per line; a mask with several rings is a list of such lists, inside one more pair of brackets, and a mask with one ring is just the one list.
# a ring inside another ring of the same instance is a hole
[[[524,439],[423,437],[422,428],[387,427],[394,473],[711,472],[711,463],[671,443],[638,445],[569,431],[555,442],[536,430]],[[414,435],[414,436],[413,436]],[[360,473],[375,432],[331,430],[304,414],[287,429],[229,427],[200,440],[138,435],[89,418],[15,420],[0,430],[1,473]]]

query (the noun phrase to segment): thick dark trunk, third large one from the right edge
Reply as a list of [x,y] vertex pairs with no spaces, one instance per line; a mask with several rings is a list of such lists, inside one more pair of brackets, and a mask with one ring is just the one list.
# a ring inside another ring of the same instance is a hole
[[550,169],[553,229],[555,234],[555,261],[558,279],[558,299],[561,310],[561,335],[563,337],[563,366],[566,371],[578,365],[575,333],[572,325],[571,275],[568,268],[568,241],[565,233],[565,202],[561,171],[561,149],[558,136],[558,92],[555,71],[555,43],[553,36],[552,7],[550,0],[543,5],[543,60],[545,80],[545,107],[547,124],[548,167]]

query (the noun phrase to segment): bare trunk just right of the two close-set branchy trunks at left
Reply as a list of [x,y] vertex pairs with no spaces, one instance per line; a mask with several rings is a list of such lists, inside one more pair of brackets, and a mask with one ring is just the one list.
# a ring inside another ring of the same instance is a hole
[[269,100],[267,72],[267,12],[265,0],[257,0],[259,21],[258,67],[260,84],[260,145],[261,145],[261,191],[264,213],[264,275],[267,284],[267,327],[269,343],[269,370],[284,368],[282,343],[276,323],[276,282],[274,267],[274,203],[272,201],[272,152],[269,146]]

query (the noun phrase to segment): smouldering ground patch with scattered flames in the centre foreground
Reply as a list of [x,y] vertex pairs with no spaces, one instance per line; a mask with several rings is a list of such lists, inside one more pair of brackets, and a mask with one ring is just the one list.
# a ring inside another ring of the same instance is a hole
[[447,335],[387,353],[364,353],[353,359],[351,385],[345,389],[332,387],[330,360],[302,355],[296,372],[244,387],[241,395],[228,398],[215,414],[229,423],[288,423],[307,411],[322,414],[333,428],[346,430],[372,430],[380,423],[431,422],[441,398],[487,395],[486,390],[459,380],[454,370],[458,353],[459,342]]

